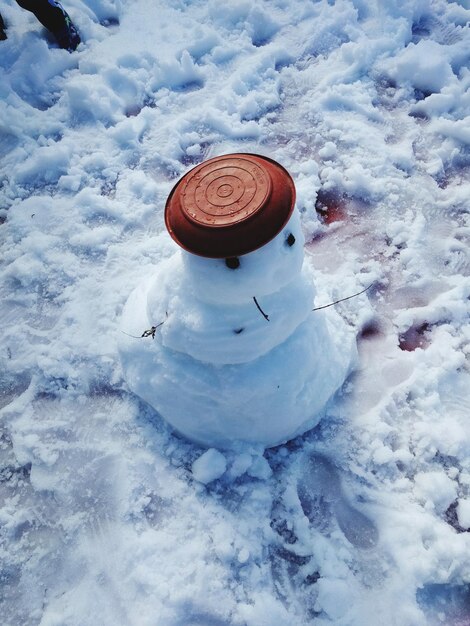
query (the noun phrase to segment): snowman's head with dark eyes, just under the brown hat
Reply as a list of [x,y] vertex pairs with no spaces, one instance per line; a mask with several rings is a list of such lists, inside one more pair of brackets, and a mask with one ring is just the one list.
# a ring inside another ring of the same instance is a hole
[[300,214],[294,209],[279,234],[254,252],[210,259],[182,250],[184,271],[199,300],[241,304],[294,280],[302,267],[304,241]]

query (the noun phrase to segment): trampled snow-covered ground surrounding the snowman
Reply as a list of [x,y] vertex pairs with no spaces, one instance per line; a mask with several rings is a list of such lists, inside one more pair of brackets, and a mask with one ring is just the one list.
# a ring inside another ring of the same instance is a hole
[[[73,54],[1,8],[2,624],[468,626],[468,0],[66,8]],[[373,283],[264,454],[172,434],[117,352],[170,189],[241,151],[295,179],[316,306]]]

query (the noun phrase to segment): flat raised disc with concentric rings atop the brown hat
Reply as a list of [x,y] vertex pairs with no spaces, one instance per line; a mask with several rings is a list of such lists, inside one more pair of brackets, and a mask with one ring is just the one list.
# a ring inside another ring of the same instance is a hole
[[186,181],[181,208],[197,224],[229,226],[259,211],[271,188],[270,178],[256,163],[240,158],[211,161]]

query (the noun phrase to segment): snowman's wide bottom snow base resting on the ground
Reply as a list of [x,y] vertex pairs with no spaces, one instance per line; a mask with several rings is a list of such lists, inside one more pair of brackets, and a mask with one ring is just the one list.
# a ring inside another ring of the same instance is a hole
[[[150,283],[130,296],[122,329],[140,336]],[[198,444],[279,445],[315,426],[346,378],[355,354],[351,330],[334,310],[314,312],[281,345],[238,365],[212,365],[161,345],[122,335],[120,354],[130,389],[175,430]]]

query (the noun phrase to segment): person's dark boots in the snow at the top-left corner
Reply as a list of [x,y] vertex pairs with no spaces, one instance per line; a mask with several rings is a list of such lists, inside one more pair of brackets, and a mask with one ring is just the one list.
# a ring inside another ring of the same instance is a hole
[[[31,11],[47,28],[64,50],[73,52],[80,43],[80,35],[67,11],[57,0],[16,0],[27,11]],[[5,25],[0,16],[0,39],[6,39]],[[2,37],[3,33],[3,37]]]

